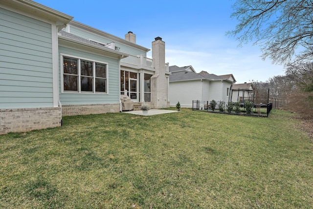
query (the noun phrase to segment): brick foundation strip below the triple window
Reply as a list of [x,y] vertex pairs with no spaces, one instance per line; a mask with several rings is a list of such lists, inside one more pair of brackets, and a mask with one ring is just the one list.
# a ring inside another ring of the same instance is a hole
[[120,104],[80,104],[62,105],[62,116],[102,114],[119,112]]

